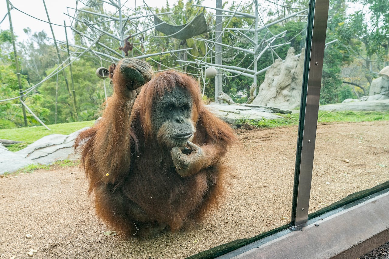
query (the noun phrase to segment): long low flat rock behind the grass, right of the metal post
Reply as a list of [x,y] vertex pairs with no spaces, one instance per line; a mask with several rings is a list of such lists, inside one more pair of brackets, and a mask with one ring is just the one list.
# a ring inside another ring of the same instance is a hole
[[333,103],[320,105],[319,110],[333,110],[333,111],[388,111],[389,99],[377,101],[359,101],[350,103]]

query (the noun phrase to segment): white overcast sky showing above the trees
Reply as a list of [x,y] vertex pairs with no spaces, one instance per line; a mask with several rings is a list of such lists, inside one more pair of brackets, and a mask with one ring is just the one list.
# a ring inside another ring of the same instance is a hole
[[[147,5],[150,7],[166,6],[166,0],[145,0]],[[47,16],[42,0],[10,0],[12,5],[14,5],[19,10],[37,17],[41,20],[47,21]],[[121,3],[125,3],[126,0],[121,0]],[[169,0],[170,7],[173,6],[173,3],[176,3],[177,0]],[[185,1],[184,1],[185,2]],[[66,25],[70,25],[70,17],[63,14],[67,12],[66,7],[76,6],[75,0],[45,0],[47,11],[49,12],[50,21],[53,24],[63,25],[63,21],[66,21]],[[79,2],[81,4],[81,2]],[[204,5],[215,7],[215,0],[204,1]],[[143,5],[142,0],[128,0],[126,6],[135,7]],[[4,15],[7,14],[7,4],[6,1],[1,1],[0,3],[0,21],[3,19]],[[69,14],[74,14],[74,10],[69,9]],[[33,19],[32,17],[27,16],[19,12],[18,10],[11,10],[12,26],[14,28],[15,35],[19,36],[17,42],[21,42],[27,39],[26,34],[23,32],[24,28],[29,27],[31,32],[40,32],[44,30],[47,33],[47,36],[52,38],[50,26],[48,23]],[[0,29],[7,30],[9,29],[9,18],[8,16],[0,24]],[[65,40],[65,30],[63,27],[53,25],[54,35],[57,40]],[[67,30],[69,41],[72,42],[72,31],[68,28]]]

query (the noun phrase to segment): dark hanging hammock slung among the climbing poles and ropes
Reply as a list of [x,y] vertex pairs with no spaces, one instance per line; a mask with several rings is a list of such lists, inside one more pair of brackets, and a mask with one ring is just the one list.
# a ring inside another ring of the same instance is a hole
[[[162,23],[161,25],[159,25]],[[208,25],[205,22],[204,14],[196,16],[192,21],[184,25],[170,25],[164,23],[156,15],[154,15],[155,29],[165,35],[169,35],[175,39],[185,40],[197,35],[200,35],[208,30]]]

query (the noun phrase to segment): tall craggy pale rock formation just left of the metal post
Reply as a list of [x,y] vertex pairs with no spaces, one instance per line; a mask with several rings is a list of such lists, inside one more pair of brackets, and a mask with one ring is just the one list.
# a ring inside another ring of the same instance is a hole
[[304,50],[300,58],[289,48],[285,61],[276,59],[266,71],[252,104],[293,109],[300,106],[303,85]]

